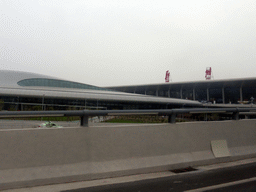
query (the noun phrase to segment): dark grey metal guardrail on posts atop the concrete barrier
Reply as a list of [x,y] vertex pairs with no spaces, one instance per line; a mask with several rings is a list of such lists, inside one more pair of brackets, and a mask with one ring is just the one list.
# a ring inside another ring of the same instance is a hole
[[81,126],[88,127],[89,116],[118,116],[118,115],[159,115],[168,116],[169,123],[176,122],[177,114],[207,114],[232,113],[235,120],[239,114],[256,114],[256,108],[182,108],[182,109],[154,109],[154,110],[74,110],[74,111],[0,111],[0,118],[13,117],[60,117],[80,116]]

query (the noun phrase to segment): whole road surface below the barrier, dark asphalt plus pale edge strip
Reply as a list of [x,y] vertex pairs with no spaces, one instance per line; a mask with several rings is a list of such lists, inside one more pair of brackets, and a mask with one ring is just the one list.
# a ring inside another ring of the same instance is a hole
[[5,190],[8,192],[256,191],[256,158],[172,171]]

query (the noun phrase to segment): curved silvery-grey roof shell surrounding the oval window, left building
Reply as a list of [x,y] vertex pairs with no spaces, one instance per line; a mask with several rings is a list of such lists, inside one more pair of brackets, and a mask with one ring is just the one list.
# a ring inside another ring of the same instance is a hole
[[[75,89],[47,86],[20,86],[17,83],[25,79],[63,79],[40,75],[35,73],[20,71],[3,71],[0,70],[0,95],[9,96],[28,96],[28,97],[56,97],[56,98],[76,98],[76,99],[96,99],[107,101],[131,101],[131,102],[152,102],[166,104],[187,104],[199,106],[197,101],[174,99],[166,97],[156,97],[140,94],[131,94],[117,91],[103,91],[93,89]],[[73,82],[76,83],[76,82]],[[84,84],[85,85],[85,84]]]

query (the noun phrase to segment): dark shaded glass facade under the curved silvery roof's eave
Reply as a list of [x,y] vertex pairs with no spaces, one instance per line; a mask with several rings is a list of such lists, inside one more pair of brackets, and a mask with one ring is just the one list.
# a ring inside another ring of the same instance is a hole
[[[40,111],[40,110],[113,110],[113,109],[165,109],[166,104],[120,102],[96,99],[61,99],[44,97],[0,96],[4,102],[2,110]],[[170,106],[168,106],[170,107]],[[1,110],[1,109],[0,109]]]

